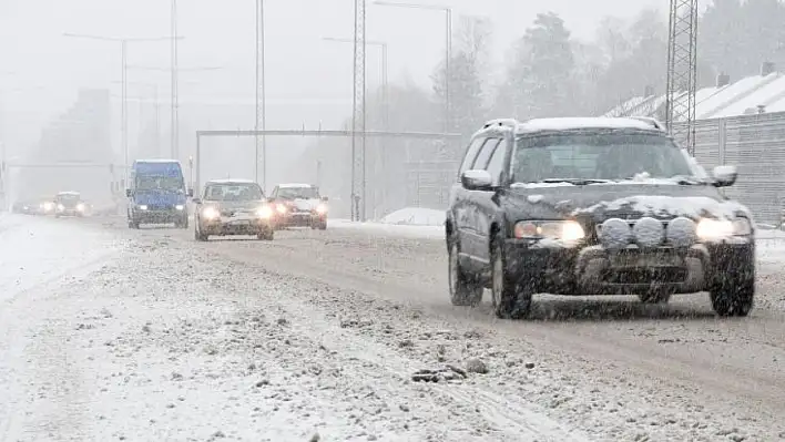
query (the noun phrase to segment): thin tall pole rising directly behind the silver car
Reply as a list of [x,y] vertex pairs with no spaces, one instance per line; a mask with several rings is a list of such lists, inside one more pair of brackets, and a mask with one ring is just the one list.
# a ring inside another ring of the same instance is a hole
[[[265,19],[264,0],[256,0],[256,131],[267,129],[267,96],[265,88]],[[254,173],[259,181],[259,151],[262,151],[262,188],[267,191],[267,135],[255,136]]]

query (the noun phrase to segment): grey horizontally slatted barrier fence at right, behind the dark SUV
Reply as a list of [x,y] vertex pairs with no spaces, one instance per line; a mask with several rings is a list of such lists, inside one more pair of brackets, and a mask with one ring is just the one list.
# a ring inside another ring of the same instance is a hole
[[707,171],[738,167],[738,182],[725,194],[750,207],[758,223],[778,225],[785,203],[785,112],[699,121],[695,140],[695,157]]

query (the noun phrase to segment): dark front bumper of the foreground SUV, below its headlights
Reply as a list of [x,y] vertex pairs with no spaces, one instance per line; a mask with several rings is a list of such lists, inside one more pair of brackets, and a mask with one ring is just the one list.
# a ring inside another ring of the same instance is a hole
[[540,247],[536,241],[504,244],[510,280],[554,295],[639,295],[653,289],[673,294],[710,290],[727,276],[753,273],[755,244],[748,241],[695,244],[619,251],[600,245]]

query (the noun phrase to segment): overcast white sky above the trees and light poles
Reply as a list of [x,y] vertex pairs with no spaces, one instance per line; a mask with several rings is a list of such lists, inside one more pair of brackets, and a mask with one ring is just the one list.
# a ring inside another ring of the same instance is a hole
[[[486,16],[496,25],[495,53],[502,54],[538,12],[554,11],[573,34],[590,39],[603,16],[631,17],[665,0],[421,0],[451,6],[461,14]],[[335,126],[350,110],[351,45],[322,37],[350,37],[353,0],[266,0],[269,126],[296,127],[323,121]],[[253,101],[254,0],[180,0],[181,101]],[[0,0],[0,110],[4,127],[26,140],[68,107],[82,86],[119,92],[119,44],[68,39],[64,32],[108,37],[162,37],[170,33],[169,0]],[[444,14],[385,8],[368,0],[367,38],[389,44],[391,81],[408,76],[429,82],[444,53]],[[368,82],[378,82],[378,53],[368,49]],[[129,63],[166,68],[167,42],[131,43]],[[165,72],[131,71],[130,81],[157,83],[169,94]],[[114,82],[114,83],[113,83]],[[132,94],[149,89],[131,88]],[[335,112],[313,102],[340,103]],[[118,104],[119,105],[119,104]],[[317,110],[318,107],[318,110]],[[165,110],[164,110],[165,114]],[[253,121],[234,125],[248,127]],[[14,134],[7,134],[13,138]],[[20,135],[20,134],[16,134]],[[35,136],[32,136],[33,138]]]

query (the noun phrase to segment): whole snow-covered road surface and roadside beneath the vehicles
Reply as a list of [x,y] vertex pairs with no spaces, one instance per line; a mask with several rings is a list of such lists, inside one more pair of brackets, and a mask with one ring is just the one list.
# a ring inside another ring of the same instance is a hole
[[[0,440],[785,436],[774,266],[744,320],[690,296],[542,297],[531,320],[499,321],[487,302],[449,306],[441,226],[431,238],[334,222],[205,244],[122,218],[8,219],[0,245],[84,276],[50,273],[0,304]],[[31,230],[68,244],[39,250]]]

